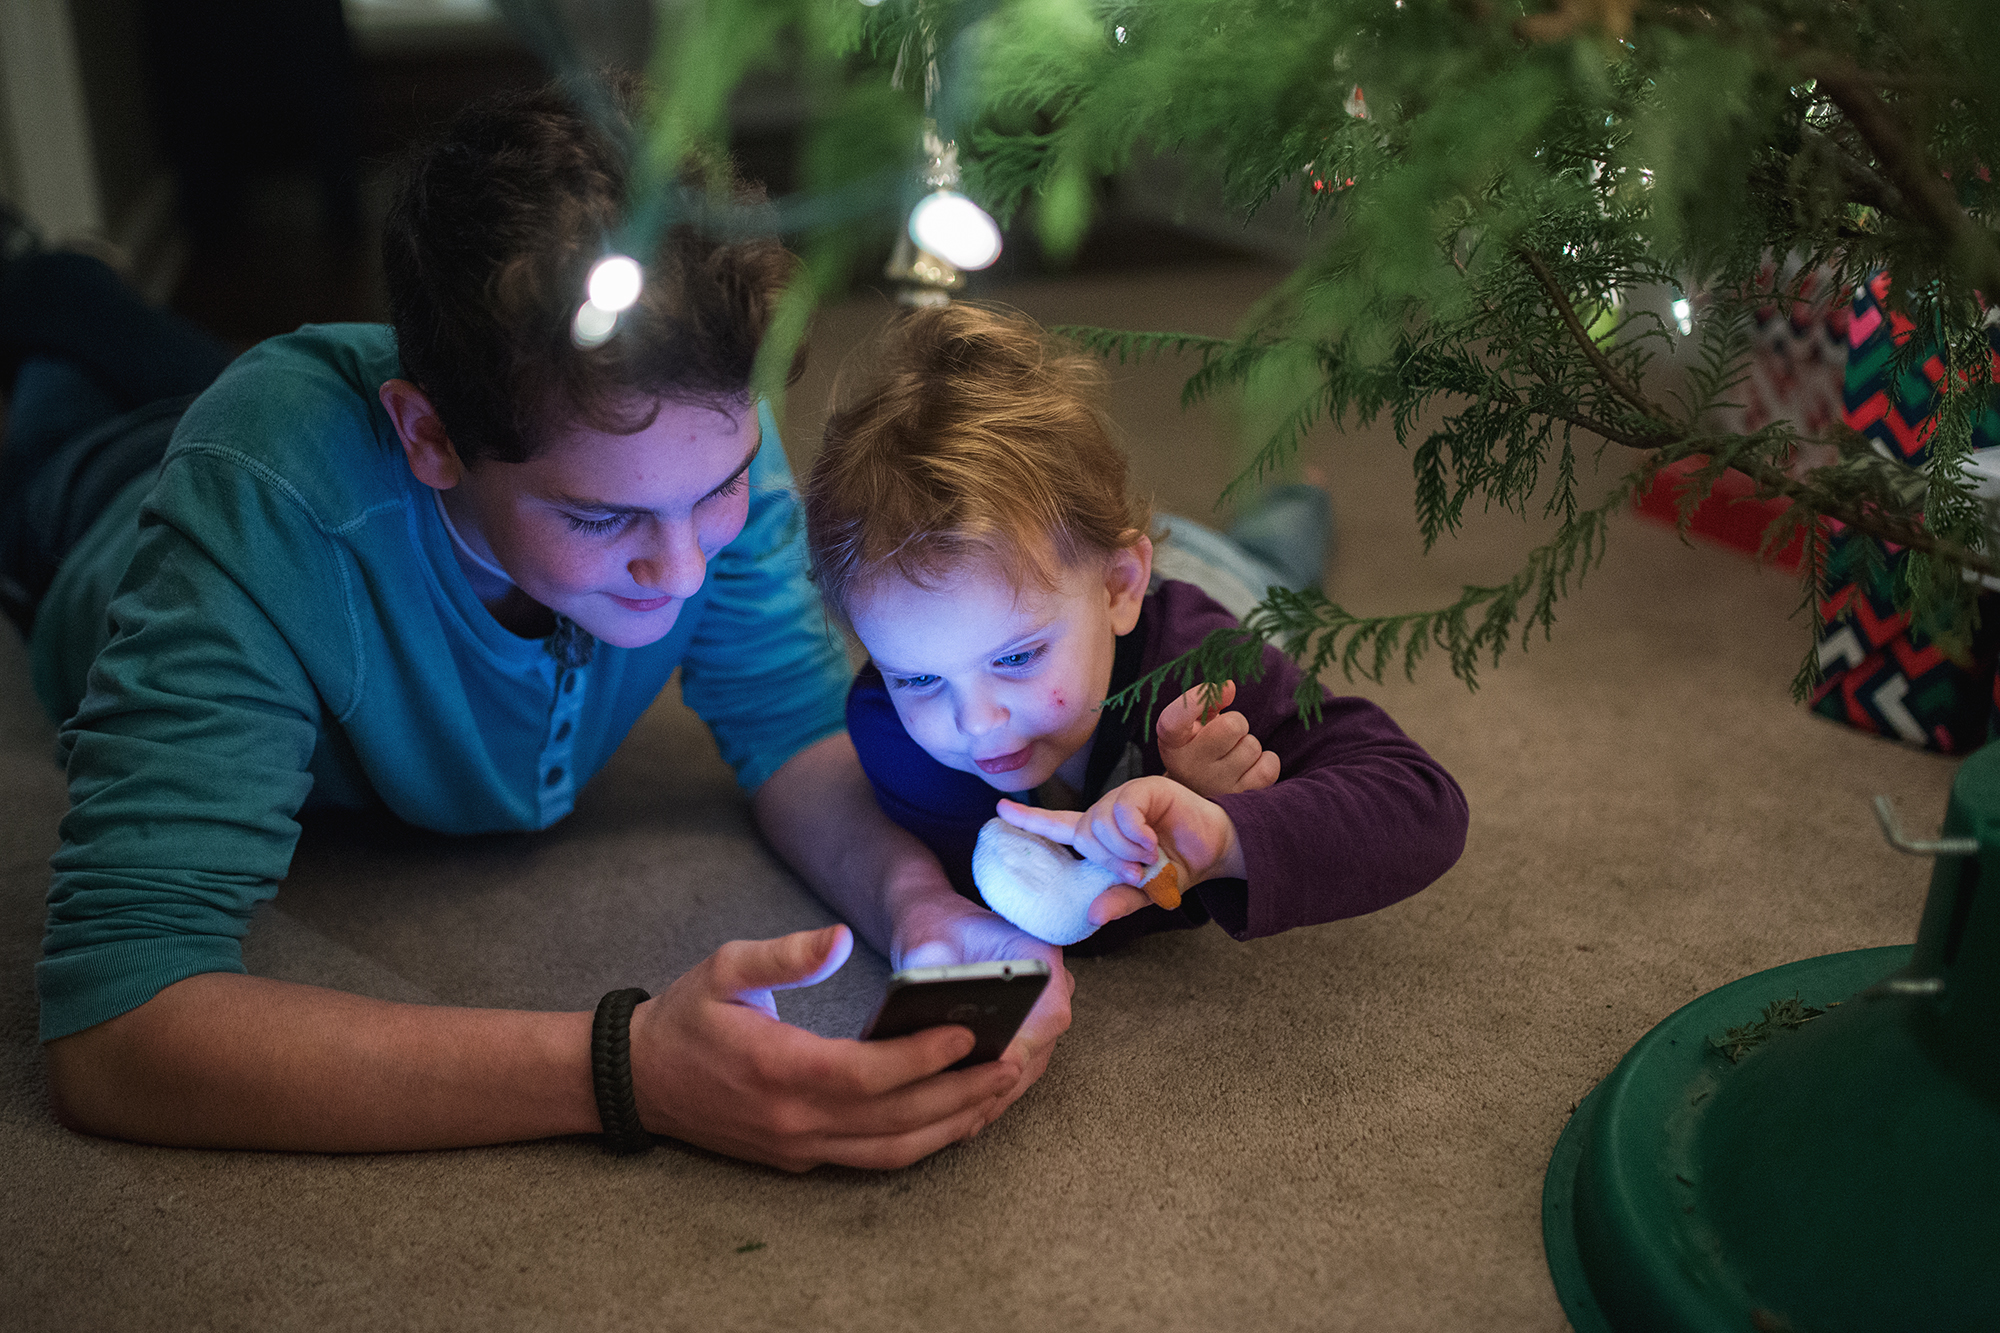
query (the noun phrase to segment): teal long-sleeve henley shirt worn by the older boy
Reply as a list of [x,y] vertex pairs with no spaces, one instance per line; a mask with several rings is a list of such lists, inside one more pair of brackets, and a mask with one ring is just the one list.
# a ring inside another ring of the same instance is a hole
[[840,731],[846,658],[768,412],[750,518],[672,632],[562,669],[472,594],[376,398],[398,374],[374,324],[252,348],[64,560],[30,644],[70,781],[42,1041],[244,971],[300,809],[544,829],[676,666],[744,789]]

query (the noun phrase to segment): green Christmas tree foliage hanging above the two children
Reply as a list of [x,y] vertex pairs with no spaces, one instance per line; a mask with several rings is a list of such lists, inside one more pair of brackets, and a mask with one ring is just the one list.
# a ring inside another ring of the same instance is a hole
[[[1208,170],[1244,214],[1304,200],[1312,250],[1236,336],[1066,330],[1116,358],[1196,354],[1186,400],[1244,394],[1246,414],[1272,426],[1232,490],[1280,468],[1312,428],[1386,416],[1416,472],[1426,542],[1468,506],[1554,520],[1512,578],[1446,606],[1360,616],[1274,592],[1242,632],[1140,683],[1148,701],[1182,681],[1254,675],[1266,634],[1308,666],[1308,711],[1324,669],[1380,679],[1432,650],[1472,685],[1510,642],[1550,630],[1602,558],[1610,514],[1658,468],[1696,456],[1706,464],[1684,514],[1740,468],[1792,500],[1766,548],[1818,516],[1910,546],[1902,596],[1918,622],[1948,646],[1970,638],[1964,570],[2000,570],[1962,476],[1992,378],[1976,292],[2000,292],[1992,0],[702,0],[662,12],[656,180],[722,136],[728,88],[760,62],[782,56],[810,104],[806,188],[778,200],[808,264],[770,348],[774,374],[812,302],[846,280],[858,236],[900,226],[914,200],[934,56],[930,110],[960,144],[968,192],[1002,218],[1032,216],[1052,250],[1082,236],[1094,182],[1142,152]],[[1332,188],[1286,190],[1312,178]],[[1788,254],[1846,282],[1894,274],[1892,300],[1918,328],[1902,356],[1940,352],[1950,368],[1922,472],[1850,436],[1834,464],[1794,478],[1786,422],[1716,430],[1752,310],[1786,296],[1758,290],[1758,272]],[[1620,300],[1658,286],[1702,300],[1676,376],[1658,362],[1678,328]],[[1624,480],[1582,494],[1586,454],[1602,450]],[[1806,550],[1810,604],[1818,542]]]

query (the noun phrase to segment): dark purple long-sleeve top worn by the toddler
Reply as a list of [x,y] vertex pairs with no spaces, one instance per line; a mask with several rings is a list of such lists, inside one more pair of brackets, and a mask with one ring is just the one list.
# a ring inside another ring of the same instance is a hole
[[[1138,624],[1118,640],[1112,693],[1232,624],[1236,618],[1194,584],[1160,582],[1146,594]],[[1100,953],[1136,935],[1210,919],[1236,939],[1256,939],[1358,917],[1410,897],[1458,861],[1466,845],[1458,783],[1364,699],[1328,695],[1318,725],[1306,727],[1292,695],[1298,677],[1298,666],[1266,644],[1264,677],[1238,681],[1230,705],[1284,765],[1276,785],[1220,797],[1248,879],[1210,879],[1184,895],[1180,909],[1140,909],[1072,945],[1072,953]],[[1190,685],[1162,691],[1160,699]],[[1090,747],[1086,803],[1104,795],[1114,773],[1166,773],[1150,731],[1138,711],[1104,711]],[[958,893],[978,901],[972,845],[1000,793],[972,773],[946,769],[910,739],[874,664],[848,691],[848,733],[882,811],[938,855]]]

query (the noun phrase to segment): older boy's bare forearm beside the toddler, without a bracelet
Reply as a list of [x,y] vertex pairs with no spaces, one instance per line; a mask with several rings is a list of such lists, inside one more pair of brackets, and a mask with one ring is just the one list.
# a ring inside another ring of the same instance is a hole
[[930,849],[876,805],[846,733],[788,759],[758,789],[756,815],[778,855],[884,957],[912,913],[968,907]]

